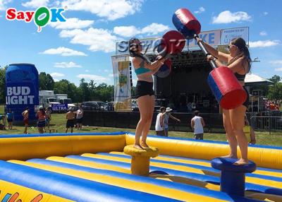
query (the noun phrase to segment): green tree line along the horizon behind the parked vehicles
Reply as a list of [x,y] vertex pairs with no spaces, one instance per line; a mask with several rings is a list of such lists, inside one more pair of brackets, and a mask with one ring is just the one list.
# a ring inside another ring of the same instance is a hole
[[[0,68],[0,104],[5,103],[5,80],[6,69]],[[274,82],[274,85],[258,85],[257,88],[263,91],[270,100],[282,100],[282,78],[274,75],[269,78]],[[89,83],[85,82],[85,79],[80,80],[80,84],[77,87],[74,83],[63,79],[61,81],[54,81],[49,73],[39,73],[39,90],[54,90],[54,93],[68,94],[73,102],[85,102],[85,101],[112,101],[114,99],[114,85],[107,85],[106,83],[97,84],[93,80]],[[132,89],[134,90],[134,88]]]

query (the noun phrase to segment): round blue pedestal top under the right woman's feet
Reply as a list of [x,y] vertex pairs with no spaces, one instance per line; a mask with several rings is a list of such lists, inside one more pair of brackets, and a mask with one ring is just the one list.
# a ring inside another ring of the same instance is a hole
[[250,173],[257,169],[255,162],[250,160],[246,165],[233,165],[236,161],[238,161],[236,158],[214,158],[212,160],[212,167],[217,170],[240,173]]

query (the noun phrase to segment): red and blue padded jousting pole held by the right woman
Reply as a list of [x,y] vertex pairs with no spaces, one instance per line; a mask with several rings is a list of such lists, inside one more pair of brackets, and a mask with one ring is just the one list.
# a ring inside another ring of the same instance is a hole
[[[201,24],[186,8],[180,8],[173,14],[173,24],[176,29],[181,32],[188,40],[196,39],[201,31]],[[207,57],[210,53],[204,47],[203,42],[197,42],[200,49]],[[209,87],[214,93],[216,100],[223,109],[235,109],[242,105],[246,98],[247,93],[243,89],[235,77],[233,71],[228,69],[227,66],[219,66],[215,61],[209,61],[213,70],[209,73],[208,83]]]

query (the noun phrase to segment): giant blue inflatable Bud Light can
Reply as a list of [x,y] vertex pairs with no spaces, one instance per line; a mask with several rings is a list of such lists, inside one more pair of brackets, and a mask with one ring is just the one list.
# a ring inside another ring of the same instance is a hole
[[15,121],[22,121],[22,112],[30,108],[30,120],[35,119],[39,105],[38,71],[34,64],[10,64],[6,70],[6,110],[11,109]]

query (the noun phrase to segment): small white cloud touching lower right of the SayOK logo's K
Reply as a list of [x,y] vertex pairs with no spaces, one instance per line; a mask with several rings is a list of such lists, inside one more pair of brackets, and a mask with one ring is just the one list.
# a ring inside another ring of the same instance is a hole
[[78,18],[67,18],[66,22],[49,23],[52,28],[61,30],[72,30],[88,28],[94,23],[94,20],[80,20]]

